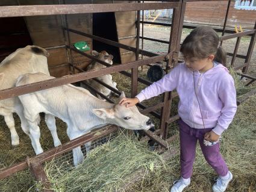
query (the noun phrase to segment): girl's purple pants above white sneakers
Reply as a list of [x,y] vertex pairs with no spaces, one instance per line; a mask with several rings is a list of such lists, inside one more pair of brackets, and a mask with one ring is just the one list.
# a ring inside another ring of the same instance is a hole
[[195,129],[190,128],[183,120],[178,120],[180,128],[180,161],[181,161],[181,176],[184,179],[188,179],[192,176],[193,163],[196,154],[196,143],[199,140],[204,158],[210,164],[211,167],[220,176],[226,176],[228,174],[228,167],[219,151],[219,143],[214,146],[204,145],[205,132],[211,131],[212,128]]

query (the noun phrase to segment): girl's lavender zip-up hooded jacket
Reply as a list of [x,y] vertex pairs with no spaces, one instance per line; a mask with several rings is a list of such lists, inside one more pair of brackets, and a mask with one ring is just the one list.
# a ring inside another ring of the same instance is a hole
[[228,128],[236,114],[237,103],[234,79],[226,67],[217,64],[205,73],[195,71],[193,75],[193,71],[181,63],[136,97],[142,102],[175,88],[180,97],[178,114],[187,125],[196,129],[203,129],[205,125],[205,128],[213,128],[217,135],[221,135]]

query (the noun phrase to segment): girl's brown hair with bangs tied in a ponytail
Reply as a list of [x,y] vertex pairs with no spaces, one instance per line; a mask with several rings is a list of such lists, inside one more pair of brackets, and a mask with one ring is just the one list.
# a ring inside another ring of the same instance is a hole
[[219,45],[220,39],[210,26],[199,26],[184,39],[181,53],[186,58],[207,58],[214,55],[214,60],[226,66],[226,52]]

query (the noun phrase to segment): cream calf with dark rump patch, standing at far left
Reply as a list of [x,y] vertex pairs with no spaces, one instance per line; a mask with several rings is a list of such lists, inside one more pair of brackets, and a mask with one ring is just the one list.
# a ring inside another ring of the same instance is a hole
[[[30,45],[10,54],[0,64],[0,90],[14,87],[18,76],[25,73],[42,72],[49,75],[46,57],[49,57],[48,51],[39,46]],[[4,116],[5,123],[11,132],[11,144],[15,146],[19,144],[19,136],[15,129],[13,113],[17,113],[22,129],[26,130],[28,123],[23,116],[23,107],[19,98],[14,97],[0,101],[0,115]],[[52,117],[47,117],[47,119],[52,119]],[[40,117],[38,116],[37,123],[39,122]]]

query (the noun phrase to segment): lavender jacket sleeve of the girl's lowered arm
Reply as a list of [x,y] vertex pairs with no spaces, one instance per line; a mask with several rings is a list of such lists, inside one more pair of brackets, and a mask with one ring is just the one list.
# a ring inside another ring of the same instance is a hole
[[236,88],[234,79],[229,74],[220,83],[219,98],[223,103],[223,108],[217,125],[213,129],[217,135],[221,135],[228,128],[237,111]]

